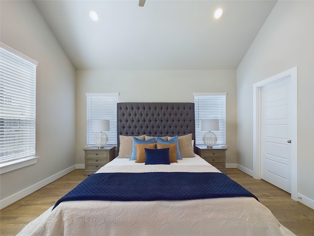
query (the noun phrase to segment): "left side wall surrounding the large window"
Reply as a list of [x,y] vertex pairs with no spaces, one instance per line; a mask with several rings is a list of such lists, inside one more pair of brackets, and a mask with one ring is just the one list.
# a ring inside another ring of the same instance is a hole
[[1,42],[38,61],[38,162],[1,174],[1,208],[75,169],[75,69],[32,1],[0,1]]

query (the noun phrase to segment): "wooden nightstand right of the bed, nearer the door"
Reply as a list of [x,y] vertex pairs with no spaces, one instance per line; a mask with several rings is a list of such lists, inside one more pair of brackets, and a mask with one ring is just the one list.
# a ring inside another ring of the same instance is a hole
[[226,168],[226,150],[227,147],[221,146],[213,146],[213,148],[208,148],[205,145],[196,146],[196,154],[217,169]]

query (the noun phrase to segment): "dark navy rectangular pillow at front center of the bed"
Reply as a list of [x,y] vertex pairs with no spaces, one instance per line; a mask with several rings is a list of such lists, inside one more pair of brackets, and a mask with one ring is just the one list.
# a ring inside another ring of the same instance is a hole
[[169,148],[147,149],[145,148],[145,165],[170,165]]

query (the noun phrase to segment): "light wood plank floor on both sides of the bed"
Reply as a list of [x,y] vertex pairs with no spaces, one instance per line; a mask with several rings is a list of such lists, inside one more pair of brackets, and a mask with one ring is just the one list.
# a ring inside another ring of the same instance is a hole
[[[263,181],[254,179],[237,169],[224,171],[257,196],[275,217],[297,236],[314,236],[314,210],[293,201],[287,192]],[[84,178],[83,170],[52,182],[13,205],[0,211],[0,235],[14,236],[30,221],[53,206],[64,194],[74,188]]]

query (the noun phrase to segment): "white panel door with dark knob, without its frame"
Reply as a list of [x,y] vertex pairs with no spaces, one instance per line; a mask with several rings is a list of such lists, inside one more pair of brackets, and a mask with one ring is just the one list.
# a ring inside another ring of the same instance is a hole
[[291,193],[291,77],[262,87],[262,179]]

